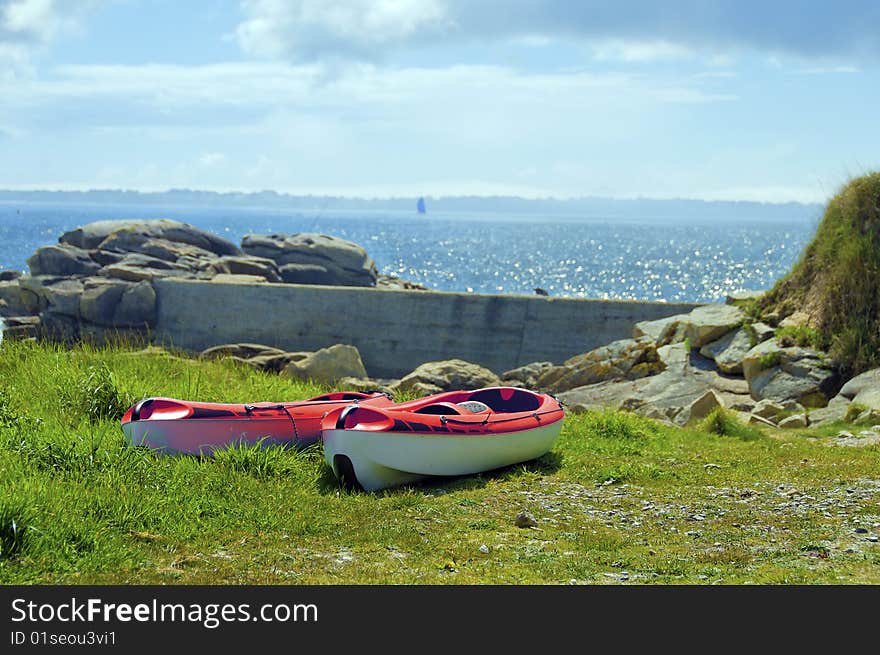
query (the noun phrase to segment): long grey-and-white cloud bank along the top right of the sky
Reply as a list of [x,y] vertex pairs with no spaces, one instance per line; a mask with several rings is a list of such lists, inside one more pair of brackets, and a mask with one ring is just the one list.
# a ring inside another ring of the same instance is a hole
[[[880,55],[875,0],[245,0],[248,53],[299,60],[379,59],[450,40],[574,40],[608,59],[699,53],[728,65],[743,51],[808,58]],[[609,46],[609,44],[611,44]]]

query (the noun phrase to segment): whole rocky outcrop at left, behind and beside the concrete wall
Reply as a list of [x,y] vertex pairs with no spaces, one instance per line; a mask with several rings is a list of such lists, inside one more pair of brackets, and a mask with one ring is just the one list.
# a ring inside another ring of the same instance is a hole
[[[217,235],[168,219],[89,223],[65,232],[57,245],[38,248],[28,259],[30,275],[3,276],[0,316],[39,316],[47,328],[44,336],[50,338],[103,338],[113,329],[145,336],[156,316],[155,293],[148,287],[161,278],[242,285],[377,283],[373,260],[344,239],[321,234],[250,235],[243,244],[247,253]],[[386,277],[383,287],[420,285]],[[247,359],[266,370],[293,361]]]

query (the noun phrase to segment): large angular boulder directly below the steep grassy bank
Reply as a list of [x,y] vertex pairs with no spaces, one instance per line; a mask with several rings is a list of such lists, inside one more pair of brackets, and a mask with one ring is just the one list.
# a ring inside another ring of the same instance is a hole
[[824,407],[840,386],[840,376],[827,355],[811,348],[783,347],[775,339],[749,350],[742,366],[755,400],[795,400],[804,407]]

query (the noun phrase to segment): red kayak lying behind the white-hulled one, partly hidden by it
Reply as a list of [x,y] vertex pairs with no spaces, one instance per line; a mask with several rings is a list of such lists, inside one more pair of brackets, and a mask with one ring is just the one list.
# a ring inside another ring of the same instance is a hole
[[381,392],[328,393],[285,403],[221,404],[146,398],[122,417],[122,431],[135,446],[162,452],[208,454],[233,444],[304,447],[321,438],[321,419],[352,403],[392,404]]

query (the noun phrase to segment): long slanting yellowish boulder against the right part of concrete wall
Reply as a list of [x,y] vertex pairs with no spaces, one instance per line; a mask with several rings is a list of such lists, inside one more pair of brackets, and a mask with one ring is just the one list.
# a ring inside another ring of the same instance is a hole
[[665,368],[650,338],[621,339],[545,369],[535,380],[539,389],[558,393],[606,380],[637,380]]

